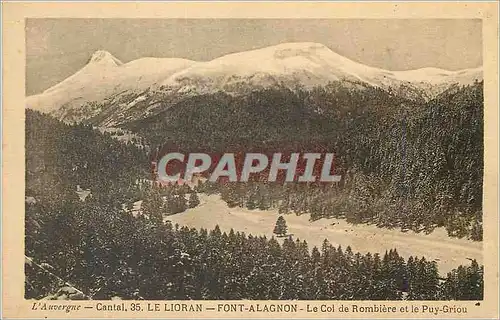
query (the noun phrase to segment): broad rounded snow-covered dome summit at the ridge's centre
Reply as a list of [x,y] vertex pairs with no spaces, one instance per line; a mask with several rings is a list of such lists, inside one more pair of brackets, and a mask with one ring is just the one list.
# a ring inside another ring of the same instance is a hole
[[362,81],[357,65],[319,43],[283,43],[228,54],[184,69],[163,84],[198,91],[235,90],[273,84],[305,87],[342,79]]

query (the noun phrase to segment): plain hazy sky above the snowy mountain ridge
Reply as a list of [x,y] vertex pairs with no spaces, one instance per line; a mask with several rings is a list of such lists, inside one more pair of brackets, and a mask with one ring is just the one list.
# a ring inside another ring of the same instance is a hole
[[41,92],[83,67],[96,50],[210,60],[282,42],[319,42],[366,65],[449,70],[482,64],[481,20],[28,19],[26,92]]

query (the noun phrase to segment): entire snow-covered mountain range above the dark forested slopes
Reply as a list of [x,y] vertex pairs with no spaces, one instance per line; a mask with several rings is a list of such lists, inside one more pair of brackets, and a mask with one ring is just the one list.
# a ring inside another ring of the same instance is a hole
[[410,99],[430,99],[456,85],[482,80],[482,68],[388,71],[349,60],[319,43],[283,43],[207,62],[141,58],[122,63],[97,51],[78,72],[27,97],[26,107],[65,121],[100,124],[146,118],[161,104],[200,94],[231,95],[286,87],[310,89],[332,82],[362,90],[378,87]]

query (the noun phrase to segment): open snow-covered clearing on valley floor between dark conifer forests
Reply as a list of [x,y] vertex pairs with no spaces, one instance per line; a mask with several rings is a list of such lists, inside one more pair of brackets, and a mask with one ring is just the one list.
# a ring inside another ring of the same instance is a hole
[[[178,223],[194,228],[213,229],[219,225],[222,231],[245,232],[252,235],[273,236],[273,228],[279,216],[276,210],[261,211],[243,208],[229,208],[218,195],[200,195],[200,205],[194,209],[166,217],[172,224]],[[441,274],[459,265],[469,265],[468,259],[483,262],[482,242],[450,238],[444,228],[436,229],[429,235],[412,231],[401,232],[370,225],[352,225],[340,219],[320,219],[309,221],[309,215],[285,215],[288,233],[294,239],[306,240],[309,247],[321,248],[324,239],[342,248],[351,246],[354,252],[383,254],[396,248],[400,255],[424,256],[438,263]]]

